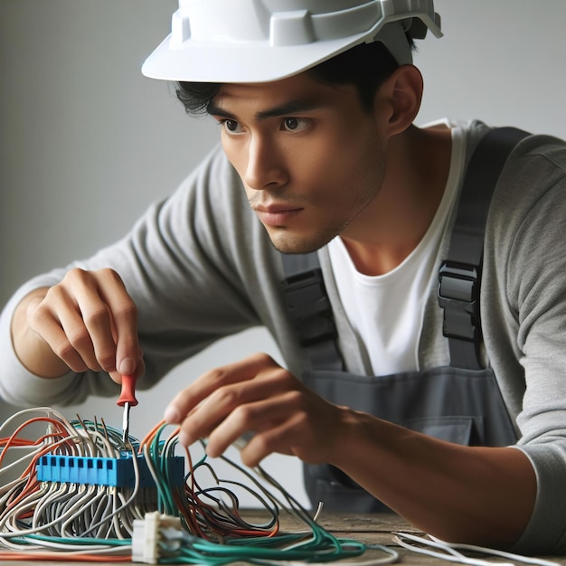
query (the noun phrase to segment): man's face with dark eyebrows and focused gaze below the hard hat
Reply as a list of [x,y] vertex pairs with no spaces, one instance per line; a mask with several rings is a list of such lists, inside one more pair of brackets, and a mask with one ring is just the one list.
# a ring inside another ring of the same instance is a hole
[[209,107],[251,208],[285,253],[318,250],[379,193],[385,138],[353,85],[302,73],[277,82],[223,85]]

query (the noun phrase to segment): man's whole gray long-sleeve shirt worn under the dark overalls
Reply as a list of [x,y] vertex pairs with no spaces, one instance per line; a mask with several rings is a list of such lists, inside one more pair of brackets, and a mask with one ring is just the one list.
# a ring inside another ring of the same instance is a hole
[[[467,127],[467,156],[486,127]],[[566,145],[530,137],[514,150],[495,189],[487,226],[481,312],[486,356],[533,462],[538,492],[516,550],[566,550]],[[449,235],[449,234],[448,234]],[[439,262],[448,249],[448,237]],[[369,373],[363,348],[336,292],[327,250],[319,251],[347,369]],[[215,149],[193,175],[156,203],[122,240],[95,256],[33,278],[0,318],[0,395],[19,405],[80,402],[117,395],[97,373],[42,380],[12,349],[10,320],[30,290],[51,286],[71,267],[113,268],[139,310],[146,359],[140,388],[225,335],[265,325],[288,369],[309,369],[284,306],[280,254],[246,201],[241,181]],[[420,336],[421,369],[448,363],[437,288],[429,289]]]

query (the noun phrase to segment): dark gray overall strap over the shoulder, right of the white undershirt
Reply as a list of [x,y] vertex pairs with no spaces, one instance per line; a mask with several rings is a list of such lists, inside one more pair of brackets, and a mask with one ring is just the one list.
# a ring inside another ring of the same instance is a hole
[[458,203],[448,257],[439,269],[439,305],[444,310],[450,365],[481,369],[479,296],[487,213],[507,157],[526,132],[514,127],[490,130],[472,155]]

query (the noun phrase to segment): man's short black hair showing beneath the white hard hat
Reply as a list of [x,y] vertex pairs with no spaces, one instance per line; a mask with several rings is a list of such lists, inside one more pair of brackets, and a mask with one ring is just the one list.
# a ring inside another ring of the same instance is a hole
[[[410,49],[414,50],[414,42],[409,34],[407,39]],[[363,109],[369,112],[373,108],[375,93],[398,67],[399,64],[382,42],[371,42],[356,45],[306,72],[328,85],[354,84]],[[221,83],[215,82],[181,81],[177,83],[175,94],[187,113],[205,114],[221,87]]]

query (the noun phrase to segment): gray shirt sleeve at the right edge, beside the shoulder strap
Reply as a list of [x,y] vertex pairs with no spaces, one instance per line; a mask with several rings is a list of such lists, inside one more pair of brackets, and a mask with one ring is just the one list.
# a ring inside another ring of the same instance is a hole
[[492,201],[485,273],[496,276],[482,280],[490,295],[482,324],[495,373],[513,383],[515,448],[537,479],[514,550],[558,553],[566,550],[566,148],[549,137],[520,147]]

